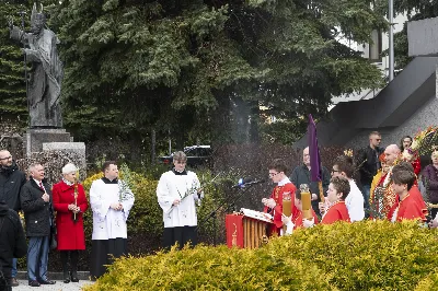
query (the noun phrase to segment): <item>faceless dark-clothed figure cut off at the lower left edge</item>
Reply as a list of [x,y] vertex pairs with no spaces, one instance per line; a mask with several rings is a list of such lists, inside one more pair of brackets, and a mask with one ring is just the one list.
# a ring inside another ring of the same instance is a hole
[[9,209],[5,201],[0,201],[0,290],[12,290],[12,258],[26,255],[26,237],[19,214]]

